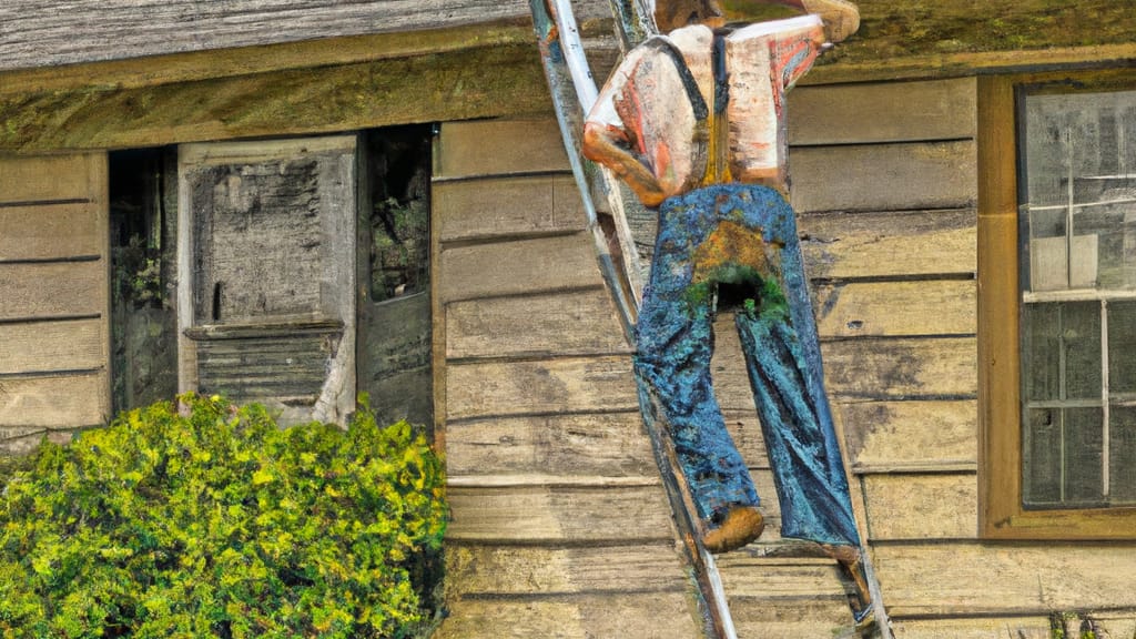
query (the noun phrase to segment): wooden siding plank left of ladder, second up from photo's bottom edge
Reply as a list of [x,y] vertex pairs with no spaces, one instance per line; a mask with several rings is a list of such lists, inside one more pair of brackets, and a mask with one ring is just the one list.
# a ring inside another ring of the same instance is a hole
[[465,596],[687,592],[674,542],[640,546],[462,546],[445,553],[446,587]]

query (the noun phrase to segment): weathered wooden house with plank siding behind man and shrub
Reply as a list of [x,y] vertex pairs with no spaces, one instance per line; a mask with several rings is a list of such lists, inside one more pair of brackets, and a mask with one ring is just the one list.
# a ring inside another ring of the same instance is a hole
[[[1136,7],[859,6],[791,93],[790,164],[888,632],[1130,638]],[[603,77],[607,2],[577,11]],[[292,420],[367,391],[446,455],[441,637],[712,633],[527,16],[8,0],[0,446],[177,390]],[[837,566],[777,534],[720,324],[771,522],[718,557],[721,603],[738,637],[846,633]]]

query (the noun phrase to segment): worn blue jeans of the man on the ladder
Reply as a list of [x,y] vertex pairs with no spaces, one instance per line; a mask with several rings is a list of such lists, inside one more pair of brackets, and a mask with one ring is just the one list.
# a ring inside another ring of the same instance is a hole
[[659,209],[651,279],[635,327],[644,409],[654,396],[699,516],[711,528],[757,506],[753,480],[710,380],[712,294],[745,287],[737,313],[782,507],[782,536],[859,546],[828,400],[793,209],[765,186],[720,184]]

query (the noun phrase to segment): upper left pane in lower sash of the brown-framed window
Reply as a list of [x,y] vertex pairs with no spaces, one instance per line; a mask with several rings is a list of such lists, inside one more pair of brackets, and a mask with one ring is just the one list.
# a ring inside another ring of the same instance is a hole
[[1026,305],[1021,355],[1027,401],[1099,399],[1100,302]]

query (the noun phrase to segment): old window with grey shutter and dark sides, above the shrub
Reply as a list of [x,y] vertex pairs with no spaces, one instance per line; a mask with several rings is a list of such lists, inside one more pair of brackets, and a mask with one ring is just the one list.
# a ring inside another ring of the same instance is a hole
[[432,146],[408,125],[109,153],[115,410],[181,384],[342,421],[358,392],[431,433]]

